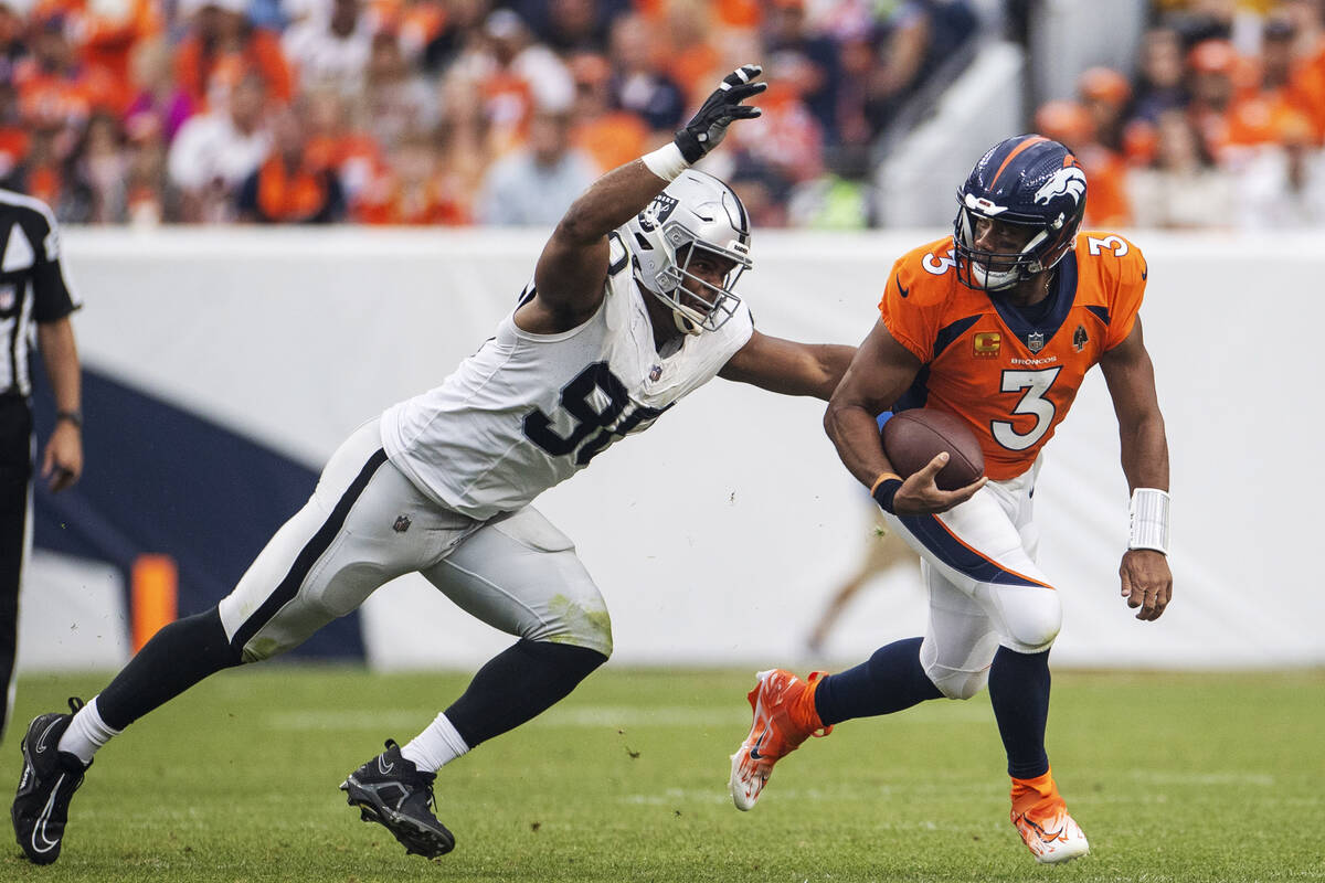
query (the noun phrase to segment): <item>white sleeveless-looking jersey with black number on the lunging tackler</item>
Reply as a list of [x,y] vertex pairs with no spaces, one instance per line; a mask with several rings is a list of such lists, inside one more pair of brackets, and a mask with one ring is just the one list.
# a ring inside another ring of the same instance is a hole
[[754,334],[742,302],[717,331],[685,335],[661,357],[644,301],[653,295],[635,282],[615,234],[610,259],[591,319],[538,335],[522,331],[513,311],[440,387],[382,414],[387,457],[424,494],[474,519],[518,510],[647,429]]

